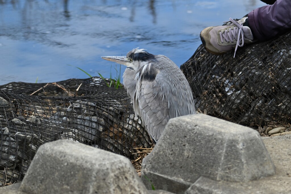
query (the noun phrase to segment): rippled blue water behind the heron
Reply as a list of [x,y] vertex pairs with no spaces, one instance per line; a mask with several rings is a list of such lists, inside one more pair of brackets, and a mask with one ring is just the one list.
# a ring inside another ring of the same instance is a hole
[[201,44],[203,28],[264,5],[259,0],[0,0],[0,85],[88,78],[75,67],[115,77],[119,65],[100,57],[126,55],[136,47],[180,66]]

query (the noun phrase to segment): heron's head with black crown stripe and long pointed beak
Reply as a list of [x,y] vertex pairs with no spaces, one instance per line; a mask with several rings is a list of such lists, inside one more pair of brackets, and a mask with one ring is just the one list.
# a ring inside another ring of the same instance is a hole
[[134,48],[127,53],[126,56],[106,56],[102,59],[113,61],[133,69],[139,69],[139,67],[148,64],[151,61],[155,61],[155,55],[152,55],[145,51],[145,49]]

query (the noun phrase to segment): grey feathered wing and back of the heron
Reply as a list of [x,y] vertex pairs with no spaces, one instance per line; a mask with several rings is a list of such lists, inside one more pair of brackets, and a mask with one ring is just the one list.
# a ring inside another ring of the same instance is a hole
[[[155,141],[161,136],[170,118],[195,114],[189,83],[182,71],[170,62],[173,65],[167,67],[166,71],[159,69],[154,81],[137,84],[136,109]],[[171,75],[173,72],[175,75]]]

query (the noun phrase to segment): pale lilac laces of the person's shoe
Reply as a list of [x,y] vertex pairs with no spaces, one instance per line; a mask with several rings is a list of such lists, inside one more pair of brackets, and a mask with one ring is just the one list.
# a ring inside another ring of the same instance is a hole
[[[235,53],[237,51],[237,47],[242,47],[244,46],[244,31],[242,30],[242,22],[240,24],[229,18],[229,20],[235,25],[233,29],[228,28],[224,32],[219,32],[220,35],[220,40],[223,43],[224,41],[226,42],[233,42],[234,40],[237,41],[237,44],[235,46]],[[233,58],[235,57],[235,54],[233,55]]]

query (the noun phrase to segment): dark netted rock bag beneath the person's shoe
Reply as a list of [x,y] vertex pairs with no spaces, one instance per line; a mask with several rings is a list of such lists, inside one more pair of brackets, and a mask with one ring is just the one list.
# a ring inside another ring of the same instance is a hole
[[289,125],[291,116],[291,36],[212,55],[200,45],[181,69],[196,108],[250,127]]

